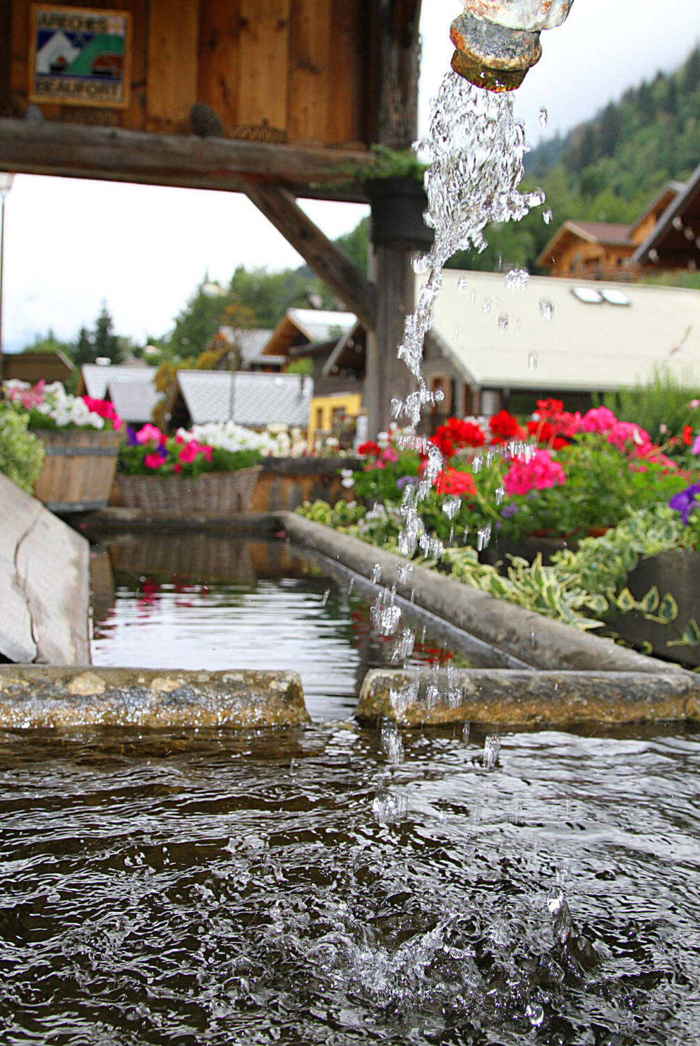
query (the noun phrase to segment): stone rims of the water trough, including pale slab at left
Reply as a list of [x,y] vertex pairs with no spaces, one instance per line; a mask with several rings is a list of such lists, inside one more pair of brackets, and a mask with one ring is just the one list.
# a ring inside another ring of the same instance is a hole
[[[0,477],[0,483],[6,482]],[[5,486],[0,493],[9,503]],[[87,542],[22,492],[10,500],[7,518],[13,527],[5,527],[0,545],[0,591],[15,600],[21,611],[18,619],[28,622],[25,632],[30,639],[51,619],[54,641],[7,645],[5,639],[0,652],[9,660],[50,661],[53,666],[0,665],[0,727],[249,728],[309,722],[295,673],[86,667]],[[183,528],[182,520],[146,520],[123,509],[100,513],[94,524],[113,531]],[[436,681],[434,672],[370,672],[357,708],[361,721],[563,726],[700,718],[700,681],[685,669],[496,599],[425,567],[414,566],[402,583],[398,556],[293,513],[188,520],[186,529],[281,531],[330,564],[341,564],[364,578],[370,578],[379,565],[382,586],[396,581],[400,597],[529,666],[466,669],[456,678],[453,673],[438,687],[444,696],[437,701],[426,699],[428,685]],[[41,536],[39,543],[35,531]],[[61,569],[51,569],[51,564],[61,564]],[[0,627],[5,636],[13,628],[17,631],[16,624]],[[83,637],[82,642],[75,637]],[[78,666],[58,667],[62,662]]]

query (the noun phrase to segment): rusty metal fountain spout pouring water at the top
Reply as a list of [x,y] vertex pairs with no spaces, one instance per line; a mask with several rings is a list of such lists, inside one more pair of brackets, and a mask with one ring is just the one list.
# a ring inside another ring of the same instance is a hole
[[542,54],[540,32],[561,25],[573,0],[465,0],[450,38],[452,68],[489,91],[513,91]]

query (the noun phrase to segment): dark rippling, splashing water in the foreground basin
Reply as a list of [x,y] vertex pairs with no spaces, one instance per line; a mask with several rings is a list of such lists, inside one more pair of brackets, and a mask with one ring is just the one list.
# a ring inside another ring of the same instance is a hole
[[700,1041],[700,734],[483,742],[1,734],[1,1041]]

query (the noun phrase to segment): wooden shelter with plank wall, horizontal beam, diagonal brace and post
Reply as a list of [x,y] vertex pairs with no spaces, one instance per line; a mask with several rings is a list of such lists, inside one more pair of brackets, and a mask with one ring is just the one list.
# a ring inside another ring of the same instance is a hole
[[412,306],[410,256],[378,247],[368,282],[296,198],[364,201],[348,165],[366,167],[372,143],[411,145],[420,7],[0,0],[2,165],[245,192],[371,331],[382,425],[389,387],[407,381],[393,357]]

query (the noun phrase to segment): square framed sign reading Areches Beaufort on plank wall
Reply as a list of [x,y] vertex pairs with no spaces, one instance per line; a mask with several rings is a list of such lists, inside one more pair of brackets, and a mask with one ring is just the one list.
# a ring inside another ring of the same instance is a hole
[[29,98],[60,106],[129,105],[131,15],[31,5]]

